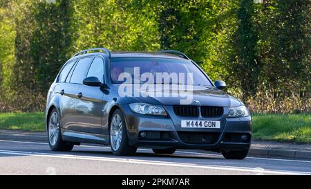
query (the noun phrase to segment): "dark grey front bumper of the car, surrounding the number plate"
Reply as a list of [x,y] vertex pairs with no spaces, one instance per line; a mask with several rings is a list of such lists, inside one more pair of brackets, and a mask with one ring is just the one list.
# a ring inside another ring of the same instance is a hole
[[[173,112],[173,107],[164,106],[169,116],[146,116],[136,114],[128,105],[122,106],[129,134],[129,145],[152,148],[174,147],[178,149],[200,150],[246,150],[250,147],[252,135],[252,118],[227,118],[229,108],[224,108],[223,116],[217,118],[178,117]],[[220,129],[182,128],[181,120],[220,120]],[[141,138],[140,132],[158,132],[160,138]],[[196,134],[196,139],[202,134],[214,134],[214,140],[195,143],[185,141],[182,134]],[[246,141],[241,140],[246,135]],[[162,135],[165,136],[162,138]]]

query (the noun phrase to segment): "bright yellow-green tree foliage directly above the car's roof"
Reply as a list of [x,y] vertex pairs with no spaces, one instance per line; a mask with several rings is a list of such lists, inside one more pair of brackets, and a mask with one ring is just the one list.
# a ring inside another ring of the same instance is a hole
[[115,0],[75,0],[73,3],[76,51],[98,46],[117,51],[158,48],[157,23],[148,4],[138,6],[137,1]]

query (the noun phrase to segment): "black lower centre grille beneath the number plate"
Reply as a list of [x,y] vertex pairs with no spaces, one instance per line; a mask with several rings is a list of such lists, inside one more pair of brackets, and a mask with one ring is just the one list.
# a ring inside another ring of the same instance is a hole
[[219,132],[178,132],[180,140],[189,144],[212,144],[216,143]]

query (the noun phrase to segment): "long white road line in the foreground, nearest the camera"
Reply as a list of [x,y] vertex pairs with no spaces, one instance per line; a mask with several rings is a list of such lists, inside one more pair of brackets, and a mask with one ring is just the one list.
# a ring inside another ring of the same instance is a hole
[[144,165],[164,165],[164,166],[174,166],[182,168],[202,168],[211,170],[228,170],[228,171],[238,171],[238,172],[252,172],[256,174],[310,174],[310,172],[291,172],[291,171],[281,171],[281,170],[261,170],[256,168],[247,167],[233,167],[233,166],[219,166],[219,165],[196,165],[194,163],[173,163],[167,161],[149,161],[149,160],[138,160],[138,159],[121,159],[121,158],[110,158],[110,157],[94,157],[94,156],[76,156],[69,154],[49,154],[49,153],[38,153],[38,152],[23,152],[23,151],[13,151],[13,150],[0,150],[0,154],[12,154],[21,156],[39,156],[48,158],[59,158],[59,159],[79,159],[88,161],[109,161],[117,163],[136,163]]

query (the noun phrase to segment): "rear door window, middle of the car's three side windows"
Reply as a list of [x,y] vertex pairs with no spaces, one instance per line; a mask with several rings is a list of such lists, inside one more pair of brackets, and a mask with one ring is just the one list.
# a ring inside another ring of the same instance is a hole
[[77,66],[75,66],[75,71],[73,71],[73,75],[71,76],[70,82],[82,84],[88,66],[90,65],[92,59],[93,57],[86,57],[80,59],[79,62],[77,62]]

